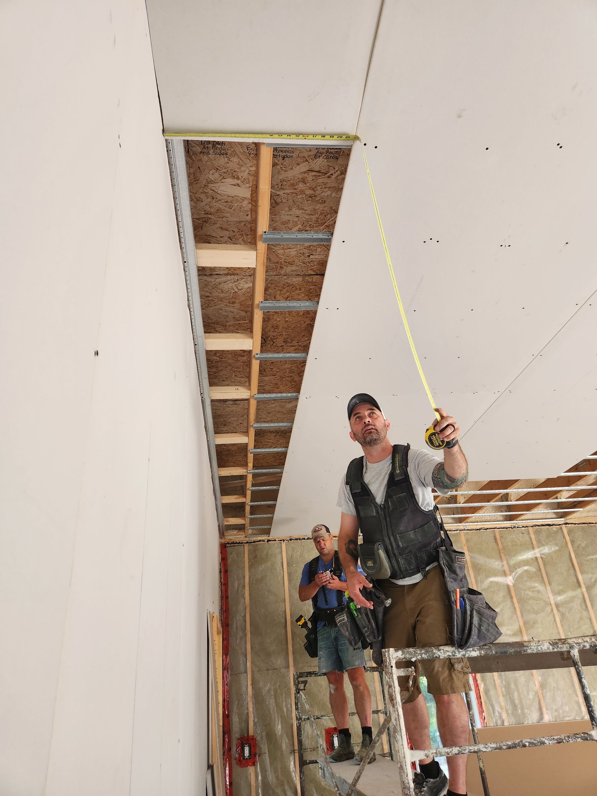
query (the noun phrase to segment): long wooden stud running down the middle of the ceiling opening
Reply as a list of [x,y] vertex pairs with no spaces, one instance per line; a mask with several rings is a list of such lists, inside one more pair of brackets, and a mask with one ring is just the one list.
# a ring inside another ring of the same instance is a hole
[[[271,203],[271,158],[274,153],[273,147],[265,144],[257,144],[257,209],[256,209],[256,271],[253,275],[253,319],[252,336],[253,347],[251,352],[251,365],[249,366],[249,400],[248,400],[248,445],[247,445],[247,469],[252,470],[253,455],[249,453],[255,447],[255,417],[257,412],[256,400],[252,398],[258,391],[259,384],[259,360],[255,358],[256,353],[261,351],[261,327],[263,325],[263,313],[259,310],[259,302],[263,301],[265,290],[265,263],[267,258],[267,245],[263,244],[262,233],[267,231],[270,217]],[[252,485],[252,474],[247,475],[247,502],[250,500],[250,488]]]

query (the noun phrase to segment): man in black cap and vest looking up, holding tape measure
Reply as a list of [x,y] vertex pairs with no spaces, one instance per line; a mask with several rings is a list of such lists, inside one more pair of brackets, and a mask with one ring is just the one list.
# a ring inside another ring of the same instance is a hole
[[[435,429],[447,443],[443,461],[429,451],[392,446],[390,424],[373,396],[361,392],[348,404],[350,439],[361,445],[364,455],[350,462],[341,480],[338,552],[348,591],[357,604],[373,607],[361,595],[361,588],[373,578],[392,599],[384,614],[384,646],[388,648],[451,642],[447,630],[451,605],[438,566],[441,525],[431,489],[447,494],[460,486],[466,482],[467,466],[458,444],[458,423],[443,409],[437,412],[441,419]],[[357,544],[359,530],[361,545]],[[357,570],[359,552],[369,579]],[[423,671],[435,699],[442,743],[468,743],[468,712],[461,696],[470,690],[466,658],[425,661]],[[400,680],[400,688],[408,693],[402,705],[408,737],[416,749],[429,749],[429,714],[419,688],[419,664],[412,689],[408,689],[408,678]],[[466,796],[466,755],[449,757],[447,765],[449,783],[435,759],[419,760],[416,794]]]

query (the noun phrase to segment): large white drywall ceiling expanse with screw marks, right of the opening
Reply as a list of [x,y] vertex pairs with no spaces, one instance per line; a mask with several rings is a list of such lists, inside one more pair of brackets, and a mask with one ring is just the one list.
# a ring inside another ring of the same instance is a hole
[[[386,3],[357,132],[419,356],[471,478],[559,474],[595,448],[597,13],[588,2]],[[345,243],[343,243],[345,241]],[[423,243],[423,241],[425,241]],[[274,535],[335,526],[361,451],[346,400],[392,439],[431,407],[401,327],[360,145],[342,195]]]

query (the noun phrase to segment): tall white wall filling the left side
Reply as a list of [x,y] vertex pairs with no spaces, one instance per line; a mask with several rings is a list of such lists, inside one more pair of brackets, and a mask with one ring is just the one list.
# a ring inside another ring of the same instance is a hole
[[0,793],[202,794],[217,525],[145,6],[1,14]]

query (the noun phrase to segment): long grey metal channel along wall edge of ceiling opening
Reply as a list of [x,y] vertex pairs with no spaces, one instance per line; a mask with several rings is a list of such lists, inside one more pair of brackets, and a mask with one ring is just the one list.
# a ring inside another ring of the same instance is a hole
[[183,139],[166,139],[166,151],[170,166],[170,181],[174,195],[174,209],[178,222],[178,238],[181,244],[182,265],[185,270],[186,293],[189,301],[189,314],[191,329],[193,330],[193,346],[195,349],[195,362],[197,376],[199,377],[199,390],[203,406],[203,420],[205,436],[207,437],[207,450],[209,455],[209,468],[212,471],[213,497],[216,501],[217,525],[220,538],[224,538],[224,512],[220,497],[220,480],[217,474],[216,440],[213,431],[212,404],[209,398],[209,381],[207,375],[207,361],[205,358],[205,335],[203,332],[203,318],[201,316],[201,295],[199,292],[199,279],[197,277],[197,258],[195,255],[195,237],[193,234],[193,219],[189,199],[189,178],[186,173],[185,142]]

